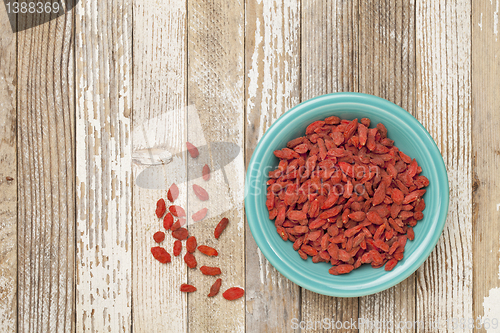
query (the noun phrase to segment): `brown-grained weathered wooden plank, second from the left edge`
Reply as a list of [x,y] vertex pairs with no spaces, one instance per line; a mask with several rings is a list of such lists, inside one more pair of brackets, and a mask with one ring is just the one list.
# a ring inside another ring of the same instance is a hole
[[18,331],[72,332],[74,17],[65,13],[28,30],[33,24],[25,20],[17,34]]

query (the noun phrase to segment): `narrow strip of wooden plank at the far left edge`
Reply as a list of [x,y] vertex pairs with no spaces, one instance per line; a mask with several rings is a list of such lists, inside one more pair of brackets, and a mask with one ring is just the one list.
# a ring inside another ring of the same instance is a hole
[[17,37],[0,6],[0,327],[17,327]]

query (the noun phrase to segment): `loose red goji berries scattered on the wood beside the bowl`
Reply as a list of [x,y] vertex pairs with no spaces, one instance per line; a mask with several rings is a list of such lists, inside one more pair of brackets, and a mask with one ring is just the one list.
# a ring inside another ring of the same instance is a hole
[[[198,149],[192,145],[191,143],[187,142],[187,149],[189,151],[189,154],[191,155],[192,158],[198,157]],[[210,168],[208,165],[204,165],[202,169],[202,176],[205,181],[208,181],[210,179]],[[208,200],[208,193],[207,191],[196,184],[193,184],[193,191],[195,195],[200,199],[201,201],[206,201]],[[178,198],[179,196],[179,188],[177,187],[176,184],[172,184],[170,186],[170,189],[167,192],[167,199],[172,203],[168,207],[167,212],[167,205],[165,203],[164,199],[158,200],[156,203],[156,216],[158,218],[163,218],[163,228],[165,230],[171,230],[172,231],[172,237],[176,239],[174,241],[174,246],[173,246],[173,254],[174,256],[179,256],[182,252],[182,241],[186,241],[185,247],[186,247],[186,254],[184,255],[184,262],[189,268],[195,269],[198,266],[198,262],[196,261],[196,257],[194,253],[196,252],[196,249],[198,251],[206,256],[211,256],[215,257],[218,256],[219,253],[217,252],[216,249],[206,246],[206,245],[198,245],[196,238],[194,236],[189,236],[189,232],[186,228],[183,227],[184,224],[186,224],[186,212],[185,210],[178,206],[178,205],[173,205],[174,201]],[[207,215],[207,208],[203,208],[199,210],[198,212],[194,213],[192,216],[193,221],[197,222],[205,218]],[[166,214],[165,214],[166,213]],[[174,222],[174,218],[177,218],[177,221]],[[221,236],[222,232],[224,229],[226,229],[227,225],[229,223],[229,220],[227,218],[223,218],[219,224],[215,227],[214,230],[214,237],[216,239],[219,239]],[[153,235],[153,240],[160,244],[165,240],[165,232],[163,231],[157,231]],[[151,253],[153,254],[153,257],[158,260],[159,262],[166,264],[171,262],[172,258],[168,251],[161,247],[161,246],[154,246],[151,248]],[[222,271],[219,267],[209,267],[209,266],[201,266],[200,271],[204,275],[211,275],[211,276],[218,276],[222,274]],[[218,278],[215,280],[214,284],[210,288],[210,292],[208,294],[208,297],[213,297],[216,296],[219,293],[219,289],[222,285],[222,279]],[[182,284],[180,287],[180,291],[182,292],[194,292],[196,291],[196,287],[193,285],[189,284]],[[235,300],[244,295],[244,290],[239,287],[231,287],[227,289],[222,296],[227,299],[227,300]]]

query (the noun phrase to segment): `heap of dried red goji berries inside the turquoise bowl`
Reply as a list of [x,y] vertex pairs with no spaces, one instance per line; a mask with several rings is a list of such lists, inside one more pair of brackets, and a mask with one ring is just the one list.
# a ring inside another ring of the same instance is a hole
[[362,264],[390,271],[403,259],[429,180],[383,124],[328,117],[274,154],[280,162],[267,182],[269,218],[302,259],[330,262],[333,275]]

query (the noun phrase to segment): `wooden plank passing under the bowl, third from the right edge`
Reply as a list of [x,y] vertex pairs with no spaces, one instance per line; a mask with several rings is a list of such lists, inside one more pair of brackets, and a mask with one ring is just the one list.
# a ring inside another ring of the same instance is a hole
[[[385,98],[415,115],[415,5],[413,1],[361,1],[359,91]],[[390,133],[389,133],[390,135]],[[415,275],[360,297],[359,316],[374,322],[415,321]],[[360,332],[384,332],[369,325]],[[395,329],[413,332],[415,329]]]

